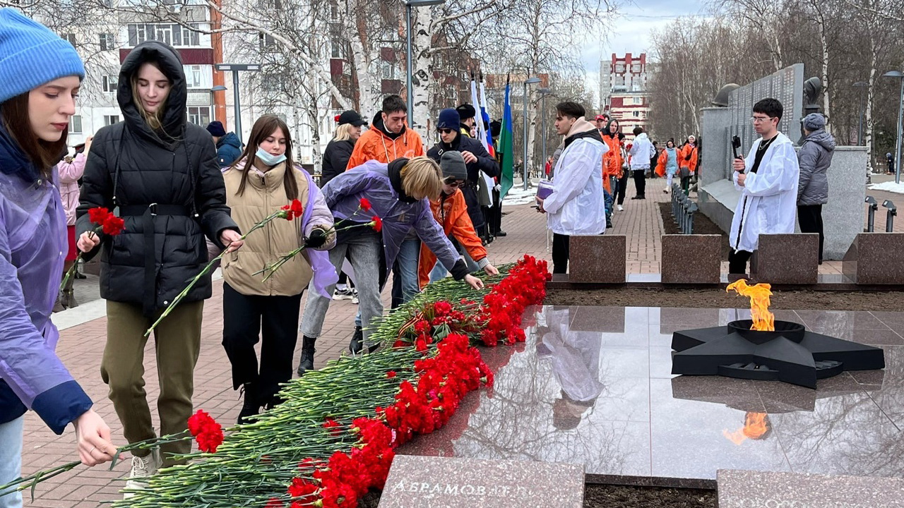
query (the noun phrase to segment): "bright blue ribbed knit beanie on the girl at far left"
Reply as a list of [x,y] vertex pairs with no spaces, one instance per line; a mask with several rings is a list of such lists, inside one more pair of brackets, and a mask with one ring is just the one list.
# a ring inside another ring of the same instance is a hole
[[12,7],[0,9],[0,102],[66,76],[85,77],[67,41]]

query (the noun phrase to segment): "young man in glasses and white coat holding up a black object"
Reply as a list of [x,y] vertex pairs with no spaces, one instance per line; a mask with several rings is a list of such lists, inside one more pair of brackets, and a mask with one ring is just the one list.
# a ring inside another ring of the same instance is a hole
[[735,159],[732,175],[741,191],[731,221],[729,273],[747,273],[747,261],[758,248],[759,235],[793,233],[800,168],[794,144],[778,132],[782,103],[762,99],[753,106],[753,128],[760,138],[747,159]]

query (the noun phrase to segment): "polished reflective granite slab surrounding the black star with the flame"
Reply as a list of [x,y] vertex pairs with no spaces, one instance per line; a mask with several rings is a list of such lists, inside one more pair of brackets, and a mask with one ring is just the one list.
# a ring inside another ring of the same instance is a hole
[[574,463],[589,482],[714,486],[718,469],[904,475],[904,313],[777,311],[885,350],[884,371],[809,390],[674,376],[672,333],[749,310],[543,306],[527,342],[484,350],[492,390],[400,454]]

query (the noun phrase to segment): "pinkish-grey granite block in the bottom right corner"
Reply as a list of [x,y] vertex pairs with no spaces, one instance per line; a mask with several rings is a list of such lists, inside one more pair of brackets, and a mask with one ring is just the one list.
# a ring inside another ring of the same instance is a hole
[[720,469],[719,508],[891,508],[904,506],[904,480]]

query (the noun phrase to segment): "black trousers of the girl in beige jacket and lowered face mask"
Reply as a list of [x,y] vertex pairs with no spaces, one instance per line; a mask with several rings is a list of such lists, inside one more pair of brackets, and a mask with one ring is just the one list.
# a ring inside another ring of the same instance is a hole
[[[279,383],[292,379],[298,340],[301,293],[295,296],[247,296],[223,284],[223,348],[232,364],[232,388],[255,383],[268,401]],[[254,344],[260,344],[260,365]]]

